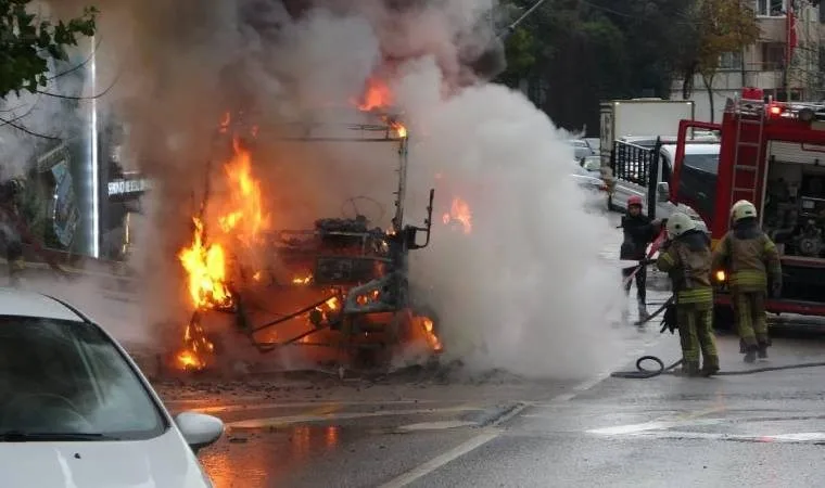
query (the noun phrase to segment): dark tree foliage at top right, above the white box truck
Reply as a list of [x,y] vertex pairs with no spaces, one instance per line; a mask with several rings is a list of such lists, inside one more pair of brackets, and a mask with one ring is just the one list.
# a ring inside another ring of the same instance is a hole
[[[516,20],[536,0],[502,0]],[[670,98],[674,76],[714,73],[724,52],[759,37],[753,11],[736,0],[547,0],[507,42],[511,87],[560,126],[599,126],[599,102]],[[535,90],[533,87],[540,87]],[[689,95],[691,87],[685,85]]]

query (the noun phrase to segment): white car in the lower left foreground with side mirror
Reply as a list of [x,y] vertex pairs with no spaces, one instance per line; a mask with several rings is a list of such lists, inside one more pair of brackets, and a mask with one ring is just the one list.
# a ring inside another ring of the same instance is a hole
[[124,349],[71,305],[0,288],[0,486],[212,487],[224,423],[174,419]]

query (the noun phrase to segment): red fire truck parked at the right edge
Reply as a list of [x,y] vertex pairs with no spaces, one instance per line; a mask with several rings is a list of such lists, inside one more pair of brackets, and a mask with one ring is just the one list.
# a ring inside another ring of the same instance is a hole
[[[685,140],[690,129],[720,131],[720,163],[710,202],[678,191]],[[772,313],[825,316],[825,103],[776,102],[759,89],[728,99],[721,124],[682,120],[669,197],[696,208],[715,246],[739,200],[759,209],[762,229],[776,243],[783,264],[780,297]],[[716,319],[733,318],[724,270],[714,270]]]

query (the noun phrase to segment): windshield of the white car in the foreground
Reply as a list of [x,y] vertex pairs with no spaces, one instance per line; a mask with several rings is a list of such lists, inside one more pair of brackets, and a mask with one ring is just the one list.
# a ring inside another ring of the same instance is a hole
[[97,325],[0,316],[0,441],[147,439],[167,427]]

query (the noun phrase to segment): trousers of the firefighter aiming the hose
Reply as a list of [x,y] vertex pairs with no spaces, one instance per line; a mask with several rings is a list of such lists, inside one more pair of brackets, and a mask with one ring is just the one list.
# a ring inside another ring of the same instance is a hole
[[713,304],[676,305],[682,357],[688,368],[698,368],[701,351],[703,368],[719,368],[716,338],[713,336]]

